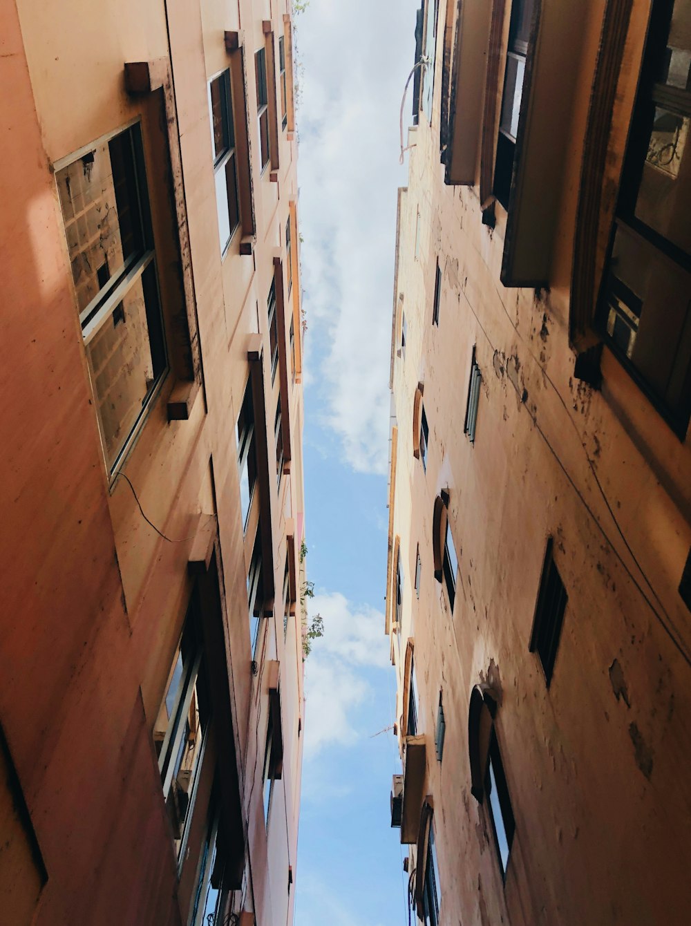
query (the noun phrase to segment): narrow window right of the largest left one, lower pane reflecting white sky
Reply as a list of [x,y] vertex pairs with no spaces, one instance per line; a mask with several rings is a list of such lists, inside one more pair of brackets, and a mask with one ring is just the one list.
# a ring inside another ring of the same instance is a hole
[[220,77],[209,82],[208,110],[211,117],[220,253],[225,254],[231,243],[232,232],[240,224],[230,70],[223,71]]

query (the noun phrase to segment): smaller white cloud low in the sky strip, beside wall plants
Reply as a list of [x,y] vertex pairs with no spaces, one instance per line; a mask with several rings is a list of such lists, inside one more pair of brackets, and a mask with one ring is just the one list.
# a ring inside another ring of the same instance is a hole
[[316,756],[327,745],[354,745],[364,735],[353,723],[355,711],[371,694],[365,669],[388,669],[388,638],[381,611],[353,606],[339,592],[316,594],[309,619],[320,614],[324,635],[305,664],[305,753]]

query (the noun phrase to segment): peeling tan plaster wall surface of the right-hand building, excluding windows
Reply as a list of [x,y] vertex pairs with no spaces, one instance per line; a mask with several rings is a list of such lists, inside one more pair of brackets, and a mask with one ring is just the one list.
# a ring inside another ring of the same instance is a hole
[[[640,41],[640,10],[636,17]],[[599,30],[589,34],[593,41]],[[572,119],[582,130],[590,82],[580,83]],[[406,579],[392,661],[402,749],[399,654],[413,637],[441,923],[678,922],[691,902],[683,771],[691,666],[680,652],[691,651],[691,615],[677,591],[691,544],[689,438],[674,436],[607,350],[601,392],[574,379],[568,283],[551,292],[501,285],[506,213],[497,204],[490,229],[477,187],[444,185],[438,93],[432,128],[421,116],[410,131],[397,242],[394,301],[403,299],[408,337],[393,370],[393,536]],[[577,134],[572,148],[580,150]],[[577,193],[574,182],[562,195],[571,223]],[[571,261],[570,222],[555,243],[559,280]],[[473,346],[483,379],[471,444],[463,426]],[[413,457],[418,382],[430,429],[426,472]],[[433,501],[442,489],[459,558],[453,615],[433,576]],[[528,647],[550,536],[569,597],[547,689]],[[394,565],[390,599],[395,584]],[[516,820],[505,884],[486,807],[470,790],[470,695],[488,680],[500,694],[496,734]],[[410,854],[411,868],[420,867],[414,847]]]

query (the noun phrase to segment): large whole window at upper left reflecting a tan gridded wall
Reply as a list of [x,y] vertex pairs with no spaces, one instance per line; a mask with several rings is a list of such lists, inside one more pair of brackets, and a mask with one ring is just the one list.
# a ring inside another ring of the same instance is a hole
[[139,125],[56,170],[109,472],[168,371]]

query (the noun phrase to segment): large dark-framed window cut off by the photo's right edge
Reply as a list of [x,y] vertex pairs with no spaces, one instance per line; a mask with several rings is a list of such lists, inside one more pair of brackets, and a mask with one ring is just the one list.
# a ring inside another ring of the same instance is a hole
[[652,6],[598,324],[684,437],[691,414],[691,38],[683,0]]

